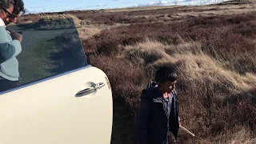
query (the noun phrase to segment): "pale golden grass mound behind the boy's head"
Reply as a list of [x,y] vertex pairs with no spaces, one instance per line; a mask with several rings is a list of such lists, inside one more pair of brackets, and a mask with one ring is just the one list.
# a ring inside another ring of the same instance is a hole
[[210,80],[226,86],[230,92],[247,91],[256,87],[255,74],[241,75],[226,70],[218,59],[202,52],[200,42],[184,42],[178,46],[168,46],[147,39],[146,42],[135,46],[126,46],[122,55],[126,62],[130,61],[132,65],[161,66],[182,62],[182,65],[178,66],[182,78],[191,82]]

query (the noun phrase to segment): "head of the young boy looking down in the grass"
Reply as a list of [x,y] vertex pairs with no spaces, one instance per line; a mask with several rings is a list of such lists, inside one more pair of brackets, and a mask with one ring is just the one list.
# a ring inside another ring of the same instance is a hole
[[158,88],[163,94],[169,94],[175,89],[177,74],[174,68],[161,66],[155,73],[155,81],[158,83]]

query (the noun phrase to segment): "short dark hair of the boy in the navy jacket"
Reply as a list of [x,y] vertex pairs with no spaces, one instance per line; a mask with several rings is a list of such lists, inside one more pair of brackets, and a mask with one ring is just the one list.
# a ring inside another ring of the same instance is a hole
[[174,82],[177,79],[177,74],[174,68],[168,66],[161,66],[155,73],[155,81],[164,83],[164,82]]

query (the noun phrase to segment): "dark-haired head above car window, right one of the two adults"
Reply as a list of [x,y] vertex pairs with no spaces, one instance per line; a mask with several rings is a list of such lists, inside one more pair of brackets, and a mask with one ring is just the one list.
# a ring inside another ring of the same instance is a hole
[[25,14],[24,2],[23,0],[14,0],[14,11],[10,18],[6,19],[6,26],[10,24],[10,22],[17,22],[17,17],[20,14]]

